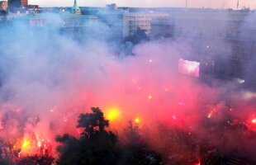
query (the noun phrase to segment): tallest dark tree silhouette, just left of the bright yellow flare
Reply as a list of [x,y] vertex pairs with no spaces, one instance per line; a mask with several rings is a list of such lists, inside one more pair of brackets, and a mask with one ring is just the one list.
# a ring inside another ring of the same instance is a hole
[[83,128],[79,139],[69,134],[56,137],[56,141],[63,144],[58,147],[61,153],[59,164],[116,164],[117,135],[107,131],[108,126],[109,122],[99,108],[92,108],[92,113],[79,115],[77,127]]

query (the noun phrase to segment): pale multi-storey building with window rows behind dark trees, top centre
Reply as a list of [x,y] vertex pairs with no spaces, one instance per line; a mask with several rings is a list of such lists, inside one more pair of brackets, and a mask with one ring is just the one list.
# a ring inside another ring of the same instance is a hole
[[125,12],[123,36],[134,35],[138,29],[144,30],[146,35],[149,35],[151,21],[158,18],[168,18],[168,14],[164,12]]

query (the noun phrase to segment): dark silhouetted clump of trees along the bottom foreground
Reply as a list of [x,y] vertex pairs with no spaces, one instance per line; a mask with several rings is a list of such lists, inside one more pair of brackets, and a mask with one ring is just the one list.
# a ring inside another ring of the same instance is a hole
[[[164,164],[156,153],[141,137],[138,126],[130,121],[123,130],[124,137],[109,127],[99,108],[92,113],[79,115],[77,127],[83,130],[79,138],[70,134],[58,135],[55,140],[59,159],[45,157],[26,157],[18,161],[19,165],[160,165]],[[2,164],[2,163],[0,163]]]

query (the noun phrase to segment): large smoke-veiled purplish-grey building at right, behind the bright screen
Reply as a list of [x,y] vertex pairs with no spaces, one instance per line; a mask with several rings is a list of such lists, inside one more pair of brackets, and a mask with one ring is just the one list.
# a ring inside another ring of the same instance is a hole
[[169,10],[168,14],[173,19],[173,40],[189,45],[181,50],[181,58],[200,62],[202,79],[240,79],[256,84],[253,11],[182,8]]

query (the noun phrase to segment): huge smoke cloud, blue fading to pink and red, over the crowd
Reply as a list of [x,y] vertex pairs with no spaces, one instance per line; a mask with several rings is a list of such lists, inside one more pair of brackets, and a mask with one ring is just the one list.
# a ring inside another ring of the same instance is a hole
[[[56,134],[78,136],[78,115],[92,106],[106,115],[117,111],[110,121],[112,129],[137,119],[155,144],[162,143],[159,135],[154,136],[159,125],[192,132],[200,141],[209,135],[205,120],[223,125],[233,116],[248,120],[255,112],[254,98],[244,99],[241,93],[246,92],[237,90],[235,83],[210,87],[178,73],[180,54],[192,52],[187,43],[150,41],[136,45],[133,55],[116,57],[113,50],[120,48],[112,43],[89,36],[74,40],[58,29],[36,31],[17,24],[1,35],[2,139],[36,134],[54,141]],[[225,137],[230,143],[224,148],[239,145],[237,132],[223,134],[212,134],[212,144],[222,145]],[[246,144],[248,150],[249,144],[253,148],[253,140]]]

